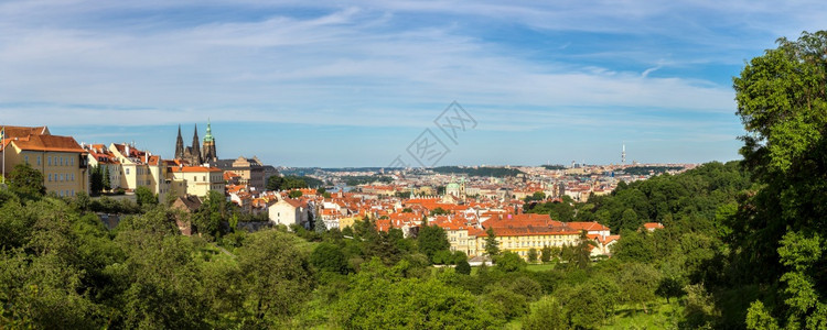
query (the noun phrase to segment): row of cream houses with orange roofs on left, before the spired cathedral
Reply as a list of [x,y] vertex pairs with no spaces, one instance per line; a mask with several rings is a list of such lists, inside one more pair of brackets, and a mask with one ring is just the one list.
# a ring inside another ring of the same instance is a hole
[[29,164],[43,174],[47,193],[74,196],[89,193],[89,170],[100,167],[112,190],[146,187],[161,200],[168,195],[224,194],[223,170],[182,160],[162,160],[128,143],[78,144],[72,136],[53,135],[46,127],[3,127],[0,147],[4,170]]

